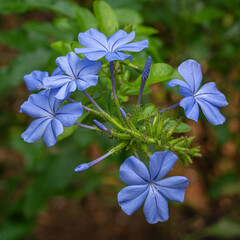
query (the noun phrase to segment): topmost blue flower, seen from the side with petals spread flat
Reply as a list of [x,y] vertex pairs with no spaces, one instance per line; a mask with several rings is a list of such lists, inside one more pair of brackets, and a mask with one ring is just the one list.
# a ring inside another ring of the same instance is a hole
[[98,60],[105,56],[108,62],[113,60],[125,60],[132,56],[121,51],[140,52],[148,48],[148,40],[131,42],[135,38],[135,32],[127,34],[118,30],[109,39],[96,29],[89,29],[85,33],[79,33],[78,41],[85,48],[75,48],[75,52],[85,54],[89,60]]

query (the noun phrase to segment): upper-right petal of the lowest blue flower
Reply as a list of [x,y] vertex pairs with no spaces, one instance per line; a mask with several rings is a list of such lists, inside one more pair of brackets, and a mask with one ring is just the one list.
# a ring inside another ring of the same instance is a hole
[[173,168],[178,157],[170,151],[155,152],[150,157],[149,171],[151,181],[158,181]]

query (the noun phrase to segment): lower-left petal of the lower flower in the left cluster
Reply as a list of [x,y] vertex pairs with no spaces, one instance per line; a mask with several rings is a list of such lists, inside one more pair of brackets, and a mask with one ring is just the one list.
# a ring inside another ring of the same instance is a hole
[[21,137],[25,142],[28,143],[36,142],[42,137],[50,121],[51,118],[49,117],[35,119],[34,121],[31,122],[28,129],[21,134]]

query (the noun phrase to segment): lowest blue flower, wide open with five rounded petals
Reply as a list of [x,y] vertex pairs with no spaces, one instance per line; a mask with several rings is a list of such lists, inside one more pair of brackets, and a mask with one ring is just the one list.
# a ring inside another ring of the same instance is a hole
[[[174,166],[177,156],[169,151],[155,152],[150,157],[149,171],[137,158],[129,157],[120,167],[120,179],[130,185],[118,193],[122,210],[132,215],[145,201],[143,212],[148,223],[168,220],[168,201],[183,202],[188,179],[162,179]],[[162,179],[162,180],[161,180]]]

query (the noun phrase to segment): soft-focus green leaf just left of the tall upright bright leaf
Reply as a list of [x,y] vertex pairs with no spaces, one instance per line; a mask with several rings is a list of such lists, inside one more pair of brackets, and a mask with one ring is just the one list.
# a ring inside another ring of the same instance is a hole
[[97,28],[97,20],[93,13],[87,8],[79,7],[76,10],[76,20],[82,32],[85,32],[90,28]]

